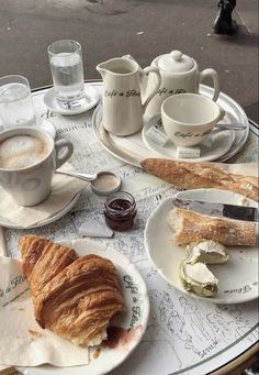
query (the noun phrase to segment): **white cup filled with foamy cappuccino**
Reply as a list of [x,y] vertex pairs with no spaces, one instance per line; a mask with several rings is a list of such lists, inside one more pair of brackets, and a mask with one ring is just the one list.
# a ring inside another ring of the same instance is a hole
[[52,178],[72,154],[71,142],[19,126],[0,133],[0,185],[20,206],[36,206],[50,192]]

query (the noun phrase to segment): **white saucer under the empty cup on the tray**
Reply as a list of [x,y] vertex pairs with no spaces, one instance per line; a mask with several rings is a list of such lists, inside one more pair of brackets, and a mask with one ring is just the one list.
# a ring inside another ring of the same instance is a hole
[[[149,137],[147,134],[148,130],[151,126],[156,126],[159,129],[159,131],[165,133],[160,119],[161,119],[160,115],[156,114],[148,122],[144,124],[143,131],[142,131],[143,142],[149,150],[155,151],[162,157],[177,158],[177,146],[170,140],[168,140],[164,146],[161,146],[158,143],[156,143],[151,137]],[[215,129],[210,134],[210,137],[211,137],[211,147],[206,145],[205,143],[201,143],[198,145],[198,147],[201,148],[200,157],[182,158],[182,161],[212,162],[212,161],[219,158],[221,156],[226,154],[228,150],[232,147],[232,144],[235,137],[235,132],[233,130]]]

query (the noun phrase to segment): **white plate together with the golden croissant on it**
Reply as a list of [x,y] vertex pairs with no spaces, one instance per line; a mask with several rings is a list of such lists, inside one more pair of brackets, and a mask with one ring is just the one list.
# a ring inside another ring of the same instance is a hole
[[[19,241],[38,330],[85,348],[89,363],[18,367],[26,375],[106,374],[134,351],[146,330],[149,299],[134,264],[111,246],[81,239]],[[21,349],[22,350],[22,349]]]

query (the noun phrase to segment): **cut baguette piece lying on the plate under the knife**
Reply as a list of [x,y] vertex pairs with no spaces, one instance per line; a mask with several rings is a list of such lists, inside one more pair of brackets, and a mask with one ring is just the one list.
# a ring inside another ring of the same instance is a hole
[[226,246],[256,246],[256,223],[214,218],[173,207],[168,214],[173,243],[184,245],[201,239]]

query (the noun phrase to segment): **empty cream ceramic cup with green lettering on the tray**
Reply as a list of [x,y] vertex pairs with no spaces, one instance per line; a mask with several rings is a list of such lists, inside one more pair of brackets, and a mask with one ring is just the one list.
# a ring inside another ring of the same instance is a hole
[[224,115],[225,111],[212,99],[199,93],[174,95],[161,106],[165,132],[178,146],[201,143]]

